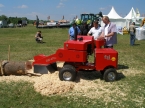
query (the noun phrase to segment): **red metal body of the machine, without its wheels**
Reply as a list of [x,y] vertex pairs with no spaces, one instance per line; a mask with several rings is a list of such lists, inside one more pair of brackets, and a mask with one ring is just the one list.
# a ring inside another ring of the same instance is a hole
[[[55,54],[34,56],[33,65],[49,65],[56,61],[72,64],[76,70],[104,70],[107,67],[117,68],[118,52],[111,48],[102,48],[105,40],[94,40],[92,36],[78,36],[77,40],[64,42]],[[81,39],[80,39],[81,38]],[[94,44],[95,43],[95,44]],[[88,45],[90,54],[94,53],[94,63],[88,63]],[[95,48],[96,47],[96,48]]]

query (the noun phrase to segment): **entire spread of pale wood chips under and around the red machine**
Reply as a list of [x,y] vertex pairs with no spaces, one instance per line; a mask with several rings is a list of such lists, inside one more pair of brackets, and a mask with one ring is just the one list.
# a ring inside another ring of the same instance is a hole
[[[58,63],[62,67],[63,63]],[[32,71],[32,70],[31,70]],[[124,76],[141,73],[135,70],[119,70]],[[58,71],[44,74],[42,76],[1,76],[1,81],[29,81],[34,83],[34,88],[42,95],[62,94],[68,98],[71,96],[85,96],[89,98],[103,98],[105,101],[111,101],[111,95],[125,97],[126,92],[120,90],[113,83],[107,83],[100,79],[99,72],[79,72],[75,82],[60,81]]]

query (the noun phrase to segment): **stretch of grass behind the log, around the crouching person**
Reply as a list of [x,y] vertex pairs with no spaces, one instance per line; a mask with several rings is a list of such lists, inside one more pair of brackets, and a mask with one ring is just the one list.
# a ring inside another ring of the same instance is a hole
[[[42,31],[46,43],[36,43],[34,36],[38,30]],[[55,53],[57,48],[63,47],[63,42],[68,39],[67,29],[36,29],[29,26],[24,28],[2,28],[0,32],[0,59],[7,59],[10,45],[10,58],[16,61],[33,59],[34,55],[40,53],[46,55]]]

